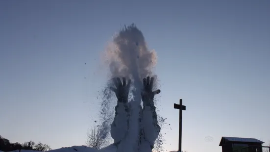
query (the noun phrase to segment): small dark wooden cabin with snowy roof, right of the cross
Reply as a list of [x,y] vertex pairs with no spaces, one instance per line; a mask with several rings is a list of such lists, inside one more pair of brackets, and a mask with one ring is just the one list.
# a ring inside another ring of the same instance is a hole
[[262,152],[264,142],[255,138],[222,137],[222,152]]

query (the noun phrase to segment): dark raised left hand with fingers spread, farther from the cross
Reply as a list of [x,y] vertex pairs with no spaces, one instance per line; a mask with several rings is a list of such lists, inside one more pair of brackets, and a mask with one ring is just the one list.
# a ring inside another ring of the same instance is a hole
[[125,77],[123,77],[123,84],[119,77],[113,79],[116,88],[110,87],[110,89],[115,92],[118,102],[126,103],[128,99],[128,92],[131,84],[131,80],[129,79],[127,84]]

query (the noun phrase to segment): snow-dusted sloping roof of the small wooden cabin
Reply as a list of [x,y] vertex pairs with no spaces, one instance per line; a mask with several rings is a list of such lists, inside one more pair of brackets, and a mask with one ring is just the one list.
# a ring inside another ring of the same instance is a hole
[[222,137],[220,146],[223,146],[223,144],[227,142],[245,142],[245,143],[260,143],[260,144],[264,143],[255,138]]

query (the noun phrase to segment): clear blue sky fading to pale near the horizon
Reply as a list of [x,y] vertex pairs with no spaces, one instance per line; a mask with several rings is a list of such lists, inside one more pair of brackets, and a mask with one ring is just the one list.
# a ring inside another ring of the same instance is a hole
[[183,150],[221,152],[221,136],[270,140],[269,0],[110,1],[0,1],[0,135],[84,145],[106,80],[100,53],[135,23],[159,57],[166,150],[177,149],[179,99]]

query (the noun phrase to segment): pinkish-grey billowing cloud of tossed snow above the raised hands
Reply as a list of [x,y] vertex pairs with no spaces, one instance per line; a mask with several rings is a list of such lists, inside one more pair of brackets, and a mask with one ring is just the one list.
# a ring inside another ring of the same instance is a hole
[[153,76],[152,69],[157,62],[156,52],[148,51],[143,33],[134,24],[124,27],[105,50],[105,60],[111,77],[125,76],[133,80],[134,100],[141,101],[142,79]]

